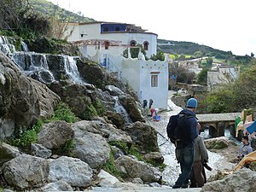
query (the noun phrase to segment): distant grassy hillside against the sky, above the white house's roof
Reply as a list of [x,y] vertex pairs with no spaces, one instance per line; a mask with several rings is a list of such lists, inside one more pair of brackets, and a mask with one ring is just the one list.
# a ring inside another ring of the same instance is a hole
[[69,21],[69,22],[90,22],[95,21],[91,18],[84,17],[84,15],[78,15],[66,9],[60,8],[54,3],[50,3],[45,0],[30,0],[32,8],[42,15],[53,16],[60,21]]

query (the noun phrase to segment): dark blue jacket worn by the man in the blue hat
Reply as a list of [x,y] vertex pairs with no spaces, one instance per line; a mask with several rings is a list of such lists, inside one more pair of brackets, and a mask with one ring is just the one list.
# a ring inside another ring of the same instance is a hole
[[186,115],[185,120],[182,118],[177,120],[177,124],[183,127],[183,142],[186,143],[186,147],[194,148],[195,138],[198,137],[198,121],[195,118],[195,113],[189,109],[183,109],[180,114]]

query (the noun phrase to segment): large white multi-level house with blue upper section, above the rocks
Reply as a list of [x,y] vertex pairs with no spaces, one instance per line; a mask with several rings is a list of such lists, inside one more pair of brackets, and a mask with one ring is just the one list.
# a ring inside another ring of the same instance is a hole
[[[69,23],[62,38],[79,44],[82,55],[97,61],[102,67],[128,82],[137,96],[153,99],[152,108],[167,108],[168,61],[145,60],[139,53],[131,58],[130,50],[141,45],[148,58],[156,54],[157,34],[140,26],[116,22]],[[124,51],[128,51],[125,58]]]

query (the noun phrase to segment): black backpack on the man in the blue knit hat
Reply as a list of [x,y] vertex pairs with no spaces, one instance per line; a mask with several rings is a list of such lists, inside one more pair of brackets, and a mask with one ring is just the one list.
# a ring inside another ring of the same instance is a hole
[[187,131],[189,128],[188,119],[193,117],[195,116],[183,113],[178,113],[170,117],[166,131],[172,143],[175,143],[177,140],[185,142],[189,139],[190,135]]

